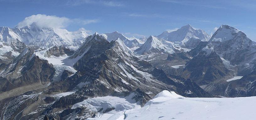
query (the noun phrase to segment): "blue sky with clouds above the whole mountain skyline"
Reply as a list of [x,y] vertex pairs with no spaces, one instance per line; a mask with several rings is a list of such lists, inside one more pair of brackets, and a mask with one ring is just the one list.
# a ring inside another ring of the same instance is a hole
[[69,31],[119,31],[128,37],[159,35],[187,24],[211,34],[227,24],[256,41],[255,13],[255,0],[0,0],[0,26],[39,21]]

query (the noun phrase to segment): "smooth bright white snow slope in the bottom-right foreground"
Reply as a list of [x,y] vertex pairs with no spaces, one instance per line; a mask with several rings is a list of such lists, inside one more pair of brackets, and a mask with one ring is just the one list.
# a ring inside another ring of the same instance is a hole
[[90,120],[254,120],[256,97],[185,98],[162,91],[142,108]]

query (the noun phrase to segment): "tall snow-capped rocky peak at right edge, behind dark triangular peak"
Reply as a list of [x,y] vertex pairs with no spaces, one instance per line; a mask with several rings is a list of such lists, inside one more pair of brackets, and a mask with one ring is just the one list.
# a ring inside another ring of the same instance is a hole
[[221,25],[209,42],[207,48],[230,61],[231,65],[250,64],[256,57],[255,42],[231,26]]

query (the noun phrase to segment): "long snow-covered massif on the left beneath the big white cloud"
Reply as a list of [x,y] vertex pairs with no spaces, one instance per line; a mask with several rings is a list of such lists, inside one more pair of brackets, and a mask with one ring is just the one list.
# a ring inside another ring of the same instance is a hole
[[22,28],[0,27],[0,40],[7,42],[19,39],[26,45],[35,45],[42,48],[51,46],[65,46],[77,49],[88,34],[83,30],[67,31],[51,27],[39,27],[35,22]]

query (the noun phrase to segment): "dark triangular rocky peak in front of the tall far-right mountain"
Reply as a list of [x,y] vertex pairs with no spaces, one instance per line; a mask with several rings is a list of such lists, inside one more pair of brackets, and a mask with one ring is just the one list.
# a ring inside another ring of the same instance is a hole
[[233,77],[214,51],[200,51],[186,64],[182,76],[200,85]]

